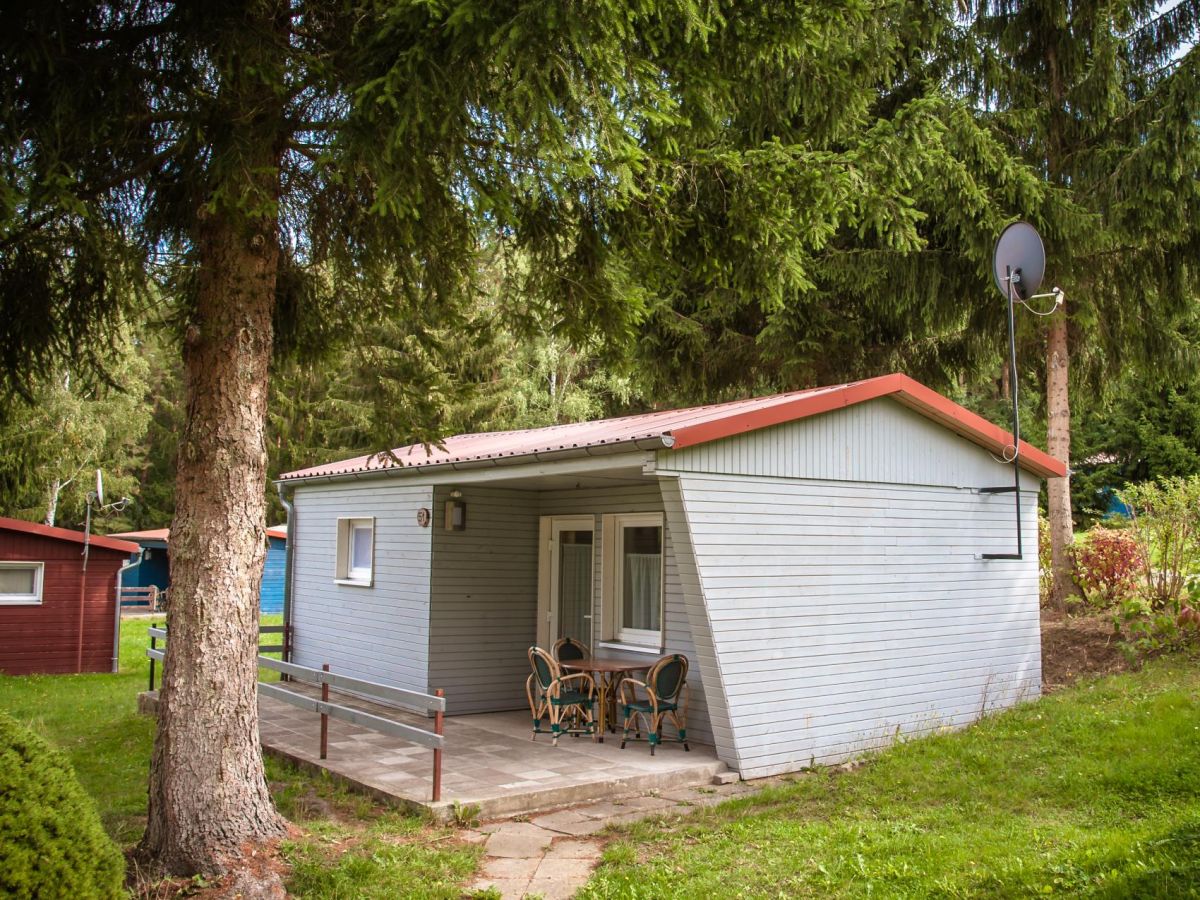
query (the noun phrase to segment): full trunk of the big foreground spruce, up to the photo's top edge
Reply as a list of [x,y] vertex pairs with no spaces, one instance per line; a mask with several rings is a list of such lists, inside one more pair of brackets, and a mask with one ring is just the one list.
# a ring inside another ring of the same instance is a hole
[[250,4],[211,47],[212,161],[191,229],[167,656],[139,848],[176,875],[230,868],[284,824],[263,772],[257,684],[288,14]]

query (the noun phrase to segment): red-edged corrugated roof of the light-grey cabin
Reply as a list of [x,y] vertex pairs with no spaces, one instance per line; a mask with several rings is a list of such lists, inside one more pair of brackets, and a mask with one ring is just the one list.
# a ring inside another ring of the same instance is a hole
[[[457,434],[440,448],[412,444],[392,450],[400,460],[370,454],[353,460],[288,472],[283,480],[350,475],[396,468],[422,468],[463,462],[498,461],[511,457],[556,454],[590,448],[647,442],[682,449],[733,437],[772,425],[805,419],[833,409],[892,397],[950,431],[994,454],[1012,452],[1013,436],[983,416],[960,407],[937,391],[905,374],[889,374],[830,388],[776,394],[769,397],[737,400],[690,409],[667,409],[619,419],[552,425],[547,428]],[[1032,444],[1021,442],[1021,466],[1042,478],[1062,476],[1067,467]]]

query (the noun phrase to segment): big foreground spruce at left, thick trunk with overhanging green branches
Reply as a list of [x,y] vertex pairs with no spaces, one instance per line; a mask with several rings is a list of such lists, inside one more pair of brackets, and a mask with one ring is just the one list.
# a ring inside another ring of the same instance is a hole
[[[58,359],[100,355],[151,280],[181,313],[172,637],[140,846],[151,863],[218,870],[282,829],[254,689],[272,354],[406,311],[452,320],[484,234],[528,259],[532,318],[613,344],[670,296],[671,253],[694,227],[727,235],[697,270],[712,302],[752,290],[766,308],[805,283],[839,229],[918,240],[907,190],[953,148],[928,125],[936,103],[898,100],[898,128],[876,97],[926,8],[6,7],[0,386],[19,392]],[[697,186],[702,203],[686,199]]]

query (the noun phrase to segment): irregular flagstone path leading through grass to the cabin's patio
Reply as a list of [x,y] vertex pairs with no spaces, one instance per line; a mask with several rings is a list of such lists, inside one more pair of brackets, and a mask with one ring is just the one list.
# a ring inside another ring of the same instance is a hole
[[600,862],[604,842],[595,835],[605,828],[649,816],[685,815],[760,787],[728,780],[736,776],[726,773],[724,778],[718,776],[725,784],[712,787],[683,787],[602,800],[534,814],[528,820],[518,816],[492,822],[467,832],[468,841],[484,845],[480,877],[470,889],[497,888],[504,900],[527,895],[565,900],[583,887]]

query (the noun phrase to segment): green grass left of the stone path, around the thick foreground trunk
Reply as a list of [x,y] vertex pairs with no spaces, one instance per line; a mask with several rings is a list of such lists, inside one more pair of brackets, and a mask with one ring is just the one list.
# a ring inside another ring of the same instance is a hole
[[[263,623],[280,619],[265,616]],[[145,828],[154,720],[137,714],[137,694],[148,686],[150,622],[121,623],[120,674],[0,676],[0,708],[66,751],[121,846]],[[475,870],[479,850],[452,830],[386,811],[328,776],[277,760],[266,760],[266,778],[280,811],[305,830],[282,846],[294,866],[288,888],[295,896],[456,898]]]

